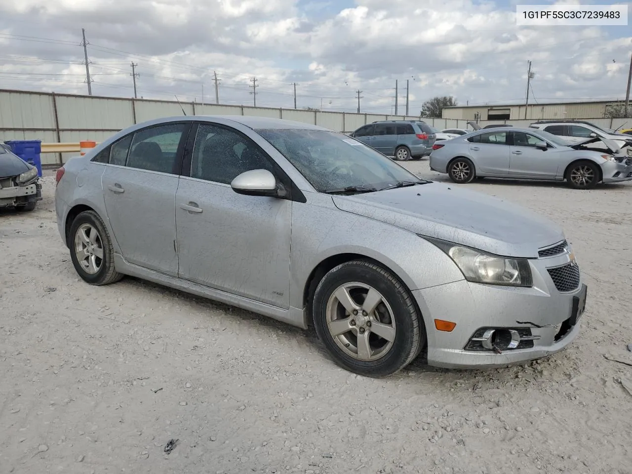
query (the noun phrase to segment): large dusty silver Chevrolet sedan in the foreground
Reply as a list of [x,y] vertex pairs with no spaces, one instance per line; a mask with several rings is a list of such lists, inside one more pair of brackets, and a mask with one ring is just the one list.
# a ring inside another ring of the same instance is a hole
[[577,336],[586,286],[561,228],[417,178],[343,133],[279,119],[156,119],[56,175],[87,283],[123,275],[307,329],[380,377],[422,351],[497,367]]

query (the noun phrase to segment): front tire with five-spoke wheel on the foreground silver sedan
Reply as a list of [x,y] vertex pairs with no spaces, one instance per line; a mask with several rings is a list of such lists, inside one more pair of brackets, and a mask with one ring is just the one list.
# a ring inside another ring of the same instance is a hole
[[[368,295],[373,308],[364,312]],[[365,260],[338,265],[318,284],[312,305],[320,341],[349,372],[386,377],[406,367],[422,349],[424,326],[415,303],[404,284],[380,265]]]

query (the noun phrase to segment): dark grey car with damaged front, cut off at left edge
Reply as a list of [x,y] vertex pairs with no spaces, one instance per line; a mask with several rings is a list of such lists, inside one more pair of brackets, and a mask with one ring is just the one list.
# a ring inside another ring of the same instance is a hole
[[33,210],[42,200],[37,168],[11,152],[0,142],[0,208]]

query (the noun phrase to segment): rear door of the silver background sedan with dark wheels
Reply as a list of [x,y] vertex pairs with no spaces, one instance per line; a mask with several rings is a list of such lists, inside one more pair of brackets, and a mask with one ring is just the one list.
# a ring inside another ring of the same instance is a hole
[[487,131],[468,138],[470,154],[478,171],[509,174],[509,132]]

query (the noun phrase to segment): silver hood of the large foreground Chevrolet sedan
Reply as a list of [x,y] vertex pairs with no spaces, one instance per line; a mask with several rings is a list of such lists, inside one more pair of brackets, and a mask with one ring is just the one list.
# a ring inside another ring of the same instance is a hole
[[538,248],[564,239],[561,227],[530,210],[442,183],[332,198],[346,212],[506,257],[537,258]]

